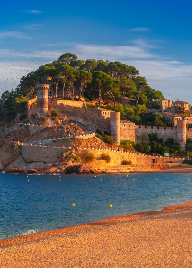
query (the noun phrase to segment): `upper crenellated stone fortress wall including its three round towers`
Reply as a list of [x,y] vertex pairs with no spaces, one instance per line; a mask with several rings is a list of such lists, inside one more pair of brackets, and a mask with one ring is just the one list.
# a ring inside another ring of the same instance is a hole
[[[59,114],[67,116],[71,120],[81,123],[92,131],[97,129],[109,131],[116,144],[120,144],[120,140],[131,140],[141,142],[143,133],[155,132],[158,138],[163,138],[166,141],[168,138],[173,138],[175,142],[179,142],[184,149],[186,138],[192,137],[192,129],[186,129],[185,120],[178,121],[177,127],[157,127],[157,126],[134,126],[127,123],[120,123],[120,113],[112,112],[110,117],[84,110],[83,102],[71,100],[48,100],[49,85],[37,85],[37,116],[48,115],[51,110],[57,109]],[[31,100],[32,101],[32,100]],[[68,105],[70,104],[70,105]],[[73,105],[73,106],[71,106]],[[28,105],[30,107],[30,105]],[[30,109],[30,113],[32,110]],[[34,111],[35,112],[35,111]],[[29,111],[28,111],[29,113]]]

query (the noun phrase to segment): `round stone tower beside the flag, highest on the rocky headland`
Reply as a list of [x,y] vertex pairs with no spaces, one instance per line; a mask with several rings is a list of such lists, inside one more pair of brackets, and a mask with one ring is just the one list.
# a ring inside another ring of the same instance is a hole
[[49,85],[40,84],[35,88],[37,90],[37,116],[47,116]]

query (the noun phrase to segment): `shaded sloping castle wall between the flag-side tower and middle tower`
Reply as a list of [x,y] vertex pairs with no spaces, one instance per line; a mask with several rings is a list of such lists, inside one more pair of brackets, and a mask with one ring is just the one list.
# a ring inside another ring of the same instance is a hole
[[69,105],[64,105],[60,103],[57,105],[56,102],[48,102],[49,113],[52,109],[57,109],[59,115],[67,116],[71,120],[81,123],[88,127],[92,131],[97,129],[110,132],[110,118],[106,118],[103,115],[98,115],[96,113],[90,112],[89,110],[79,109],[77,107],[72,107]]

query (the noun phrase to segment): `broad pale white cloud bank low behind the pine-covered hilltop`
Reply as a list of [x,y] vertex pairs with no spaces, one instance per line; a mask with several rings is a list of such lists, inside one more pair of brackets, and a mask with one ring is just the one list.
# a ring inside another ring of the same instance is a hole
[[[22,64],[19,63],[19,65],[27,67],[28,72],[32,71],[31,66],[29,66],[30,60],[35,62],[35,67],[33,68],[37,69],[38,66],[52,62],[66,52],[75,53],[79,59],[83,60],[95,58],[96,60],[108,59],[110,61],[120,61],[122,63],[135,66],[139,70],[140,75],[147,78],[147,82],[150,87],[160,90],[164,94],[164,97],[168,97],[168,94],[171,94],[176,99],[183,99],[192,104],[192,65],[179,61],[165,60],[159,55],[151,53],[150,48],[147,46],[141,46],[141,43],[139,46],[139,42],[136,46],[99,46],[75,43],[57,43],[47,45],[49,45],[49,49],[42,51],[33,51],[29,49],[23,51],[12,51],[2,49],[0,50],[0,58],[3,57],[10,62],[10,60],[16,60],[18,57],[22,62]],[[51,46],[57,46],[59,49],[51,50]],[[4,65],[6,65],[6,67]],[[6,71],[5,68],[7,69]],[[24,71],[22,70],[22,73],[17,79],[20,79],[22,75],[26,74],[27,68],[25,68]],[[3,86],[1,86],[2,77],[3,83],[5,79],[15,78],[15,72],[12,70],[12,65],[7,65],[7,63],[2,63],[2,60],[0,61],[0,93],[2,93],[1,88]],[[14,80],[11,81],[13,82]],[[6,85],[6,83],[4,84]],[[11,89],[12,83],[10,83],[9,87],[9,90]]]

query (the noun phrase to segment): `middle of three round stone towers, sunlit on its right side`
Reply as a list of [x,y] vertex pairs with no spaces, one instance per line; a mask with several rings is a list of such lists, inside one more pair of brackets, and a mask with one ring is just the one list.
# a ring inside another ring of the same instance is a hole
[[120,112],[111,112],[110,114],[111,137],[116,145],[120,144]]

